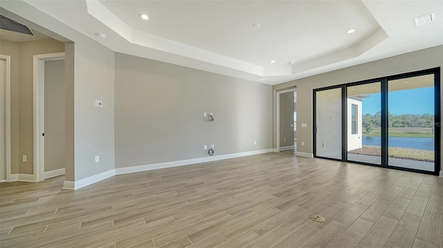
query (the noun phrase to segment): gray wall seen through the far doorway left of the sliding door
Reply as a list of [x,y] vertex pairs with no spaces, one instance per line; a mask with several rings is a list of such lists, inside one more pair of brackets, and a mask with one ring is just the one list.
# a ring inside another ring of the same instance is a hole
[[293,91],[280,94],[280,147],[293,146],[293,109]]

